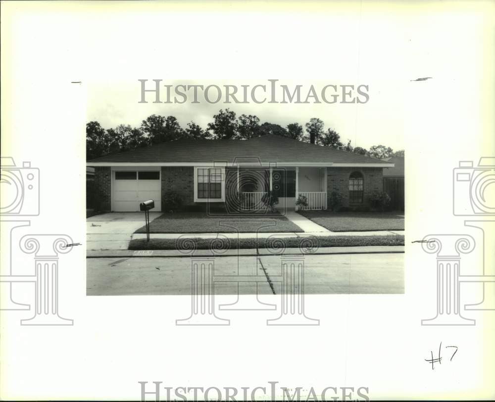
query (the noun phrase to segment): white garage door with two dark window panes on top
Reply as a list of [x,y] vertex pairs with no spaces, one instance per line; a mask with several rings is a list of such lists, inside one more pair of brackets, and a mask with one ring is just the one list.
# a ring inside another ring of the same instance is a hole
[[139,211],[139,203],[153,200],[151,211],[161,210],[161,180],[159,170],[113,171],[113,210]]

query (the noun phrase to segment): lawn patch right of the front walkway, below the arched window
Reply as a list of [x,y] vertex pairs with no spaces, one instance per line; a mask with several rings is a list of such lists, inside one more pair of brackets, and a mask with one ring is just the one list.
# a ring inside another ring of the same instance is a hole
[[332,232],[404,230],[404,215],[397,212],[298,211]]

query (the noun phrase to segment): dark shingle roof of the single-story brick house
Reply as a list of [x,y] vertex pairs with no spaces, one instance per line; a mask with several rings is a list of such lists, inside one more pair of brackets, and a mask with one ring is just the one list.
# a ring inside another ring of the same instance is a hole
[[178,140],[101,156],[91,162],[234,162],[239,158],[269,162],[388,163],[357,153],[266,134],[250,140]]

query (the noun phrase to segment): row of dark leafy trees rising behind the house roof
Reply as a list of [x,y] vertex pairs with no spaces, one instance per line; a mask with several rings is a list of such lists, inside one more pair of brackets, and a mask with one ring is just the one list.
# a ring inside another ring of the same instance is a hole
[[174,116],[152,114],[143,120],[140,127],[119,124],[115,128],[104,129],[98,121],[86,124],[86,156],[93,159],[109,153],[134,150],[181,139],[250,139],[265,134],[274,134],[297,141],[310,142],[323,147],[335,148],[347,152],[383,159],[389,156],[404,156],[404,151],[394,152],[390,147],[376,145],[366,150],[352,147],[350,140],[343,144],[340,135],[328,128],[319,118],[313,117],[304,128],[299,123],[286,127],[264,122],[260,124],[257,116],[236,113],[230,109],[220,109],[213,121],[203,129],[194,121],[181,127]]

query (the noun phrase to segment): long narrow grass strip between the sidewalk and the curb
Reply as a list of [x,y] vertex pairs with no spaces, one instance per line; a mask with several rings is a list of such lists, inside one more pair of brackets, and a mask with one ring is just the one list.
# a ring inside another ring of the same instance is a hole
[[[129,243],[129,250],[191,250],[191,242],[194,242],[196,250],[209,249],[276,249],[281,244],[285,248],[301,246],[304,238],[279,238],[279,239],[188,239],[177,242],[176,239],[133,239]],[[306,238],[306,241],[309,238]],[[268,244],[267,244],[268,242]],[[404,236],[318,236],[316,241],[310,240],[313,247],[351,247],[351,246],[403,246]],[[221,245],[221,247],[219,247]],[[307,247],[307,243],[302,246]]]

